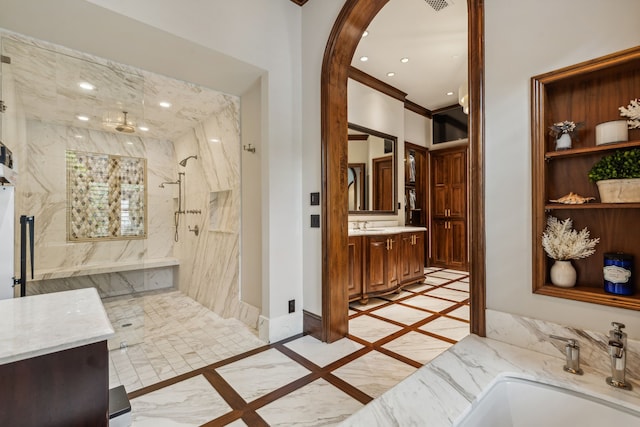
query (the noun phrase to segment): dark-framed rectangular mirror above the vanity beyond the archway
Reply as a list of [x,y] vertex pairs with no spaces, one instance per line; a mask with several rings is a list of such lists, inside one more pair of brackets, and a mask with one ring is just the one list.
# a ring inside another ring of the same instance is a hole
[[397,214],[398,138],[349,123],[349,214]]

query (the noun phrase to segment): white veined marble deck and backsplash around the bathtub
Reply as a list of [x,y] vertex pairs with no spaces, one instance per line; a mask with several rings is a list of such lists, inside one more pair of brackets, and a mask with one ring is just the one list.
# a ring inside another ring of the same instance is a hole
[[564,358],[470,335],[340,425],[452,426],[476,397],[505,376],[580,391],[640,411],[640,379],[627,377],[633,390],[618,390],[605,383],[610,373],[582,366],[584,375],[579,376],[564,372],[563,366]]

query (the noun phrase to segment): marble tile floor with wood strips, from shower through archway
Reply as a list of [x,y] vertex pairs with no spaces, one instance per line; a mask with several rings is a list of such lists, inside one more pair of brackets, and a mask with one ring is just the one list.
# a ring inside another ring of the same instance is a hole
[[140,344],[110,352],[133,426],[336,425],[469,333],[468,273],[425,270],[425,283],[352,303],[349,335],[265,345],[180,292],[107,301],[144,307]]

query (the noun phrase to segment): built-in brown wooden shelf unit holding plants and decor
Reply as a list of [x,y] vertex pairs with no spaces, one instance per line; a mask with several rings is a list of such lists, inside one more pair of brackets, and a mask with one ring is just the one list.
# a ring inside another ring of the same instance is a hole
[[[535,293],[640,310],[640,296],[606,294],[603,290],[603,255],[625,252],[640,260],[640,203],[600,203],[597,187],[587,173],[603,156],[618,149],[640,146],[640,130],[629,130],[629,141],[595,144],[595,127],[620,120],[618,107],[640,95],[640,48],[617,52],[588,62],[532,77],[532,183],[533,183],[533,291]],[[571,120],[583,122],[572,148],[555,151],[549,126]],[[569,192],[596,201],[583,205],[550,202]],[[588,228],[599,237],[596,253],[572,261],[578,274],[575,288],[550,284],[553,260],[542,248],[547,215],[571,218],[576,230]],[[636,270],[637,271],[637,270]],[[636,286],[638,286],[636,277]]]

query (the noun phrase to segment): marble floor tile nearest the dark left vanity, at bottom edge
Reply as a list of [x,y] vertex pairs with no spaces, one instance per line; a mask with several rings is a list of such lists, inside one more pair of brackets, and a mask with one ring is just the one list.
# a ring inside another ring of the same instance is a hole
[[231,407],[199,375],[132,399],[131,426],[199,426],[230,411]]

